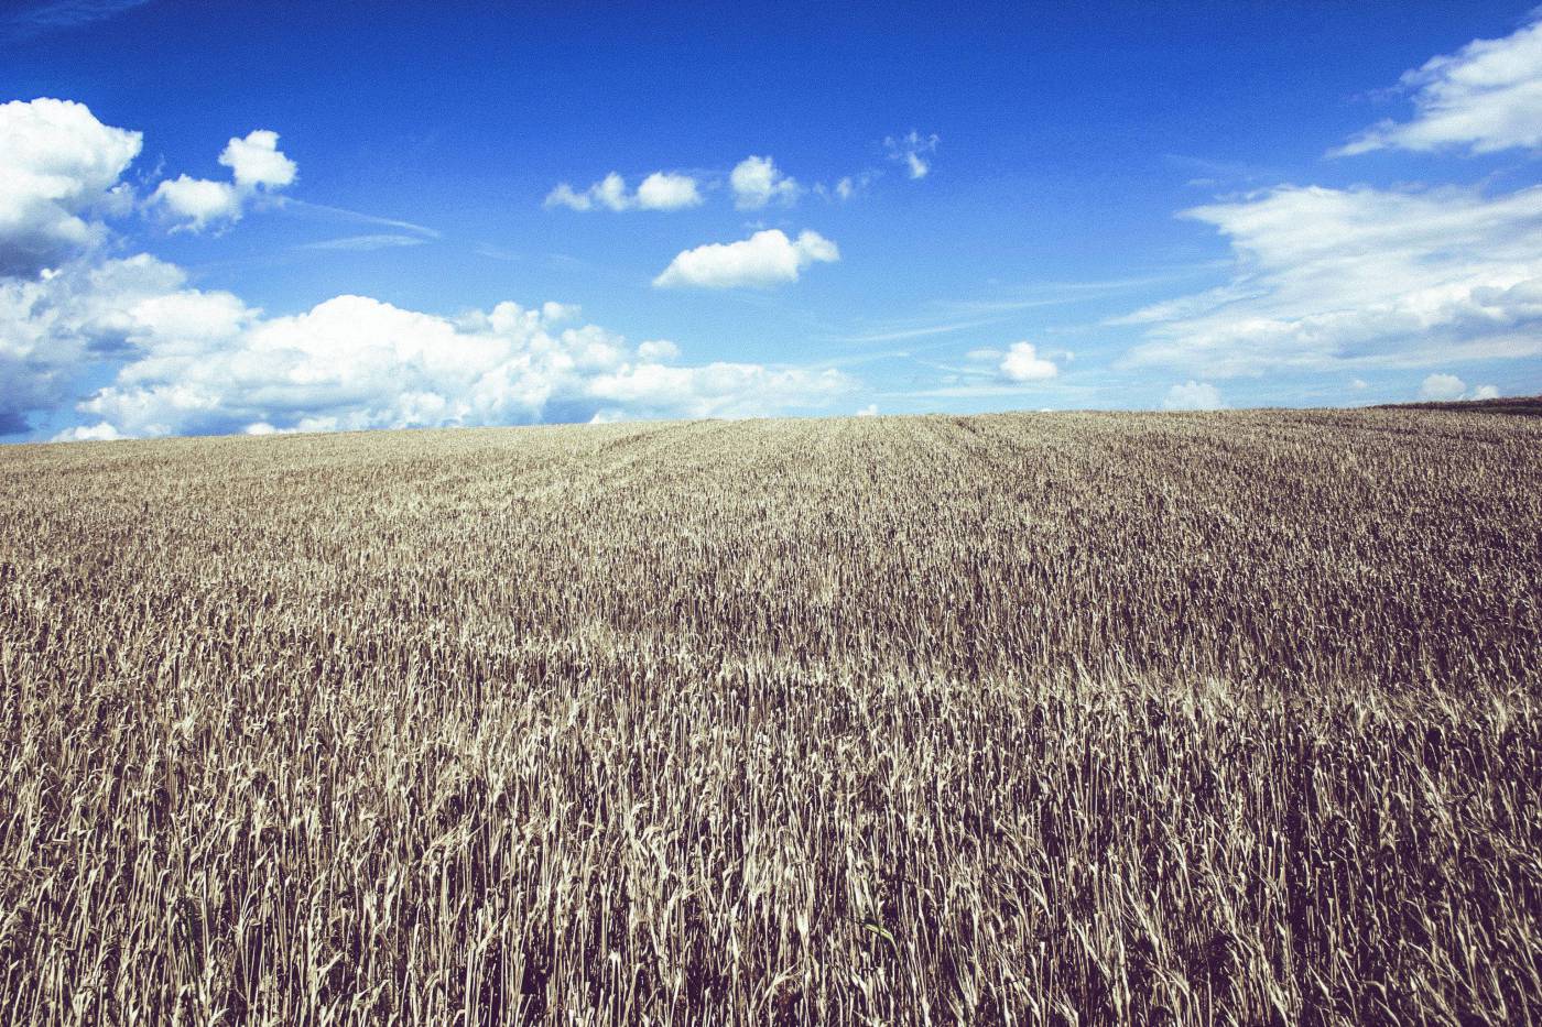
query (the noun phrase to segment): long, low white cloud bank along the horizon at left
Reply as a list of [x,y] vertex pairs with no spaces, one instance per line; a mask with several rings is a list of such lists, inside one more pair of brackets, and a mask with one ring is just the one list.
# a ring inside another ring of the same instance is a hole
[[836,370],[677,356],[555,302],[444,318],[338,296],[265,316],[146,254],[0,279],[0,432],[62,409],[89,369],[109,381],[62,438],[743,416],[828,407],[854,389]]

